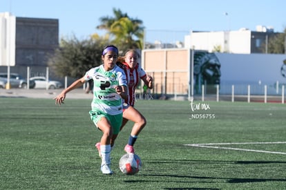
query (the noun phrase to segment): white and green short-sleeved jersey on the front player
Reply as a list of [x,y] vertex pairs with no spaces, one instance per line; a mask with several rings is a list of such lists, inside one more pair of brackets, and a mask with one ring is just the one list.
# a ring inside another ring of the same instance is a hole
[[91,68],[84,75],[86,81],[93,79],[93,111],[102,111],[109,115],[122,113],[122,98],[115,92],[115,86],[127,86],[126,75],[122,68],[115,65],[112,70],[104,66]]

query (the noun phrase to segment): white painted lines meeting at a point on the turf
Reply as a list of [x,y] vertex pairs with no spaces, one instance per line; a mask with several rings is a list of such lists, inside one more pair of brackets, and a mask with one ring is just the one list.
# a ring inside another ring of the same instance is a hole
[[274,153],[274,154],[284,154],[284,152],[274,152],[274,151],[261,151],[261,150],[253,150],[253,149],[238,149],[232,147],[224,147],[224,146],[214,146],[214,145],[232,145],[232,144],[286,144],[286,142],[229,142],[229,143],[208,143],[208,144],[184,144],[185,146],[195,146],[202,147],[208,149],[228,149],[235,151],[249,151],[249,152],[258,152],[258,153]]

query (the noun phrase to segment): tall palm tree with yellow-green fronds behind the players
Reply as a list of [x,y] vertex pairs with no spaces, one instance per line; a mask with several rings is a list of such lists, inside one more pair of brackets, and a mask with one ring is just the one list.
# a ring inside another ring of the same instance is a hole
[[128,48],[143,47],[144,26],[140,19],[128,17],[120,9],[113,8],[114,17],[101,17],[101,24],[97,29],[107,30],[111,37],[111,42],[120,47],[121,50]]

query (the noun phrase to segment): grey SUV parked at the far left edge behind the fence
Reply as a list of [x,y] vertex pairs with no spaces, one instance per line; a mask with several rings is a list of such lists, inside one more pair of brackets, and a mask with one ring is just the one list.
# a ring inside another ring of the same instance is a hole
[[[1,81],[0,84],[5,84],[3,86],[3,88],[5,88],[8,82],[8,73],[0,73],[0,81]],[[30,80],[29,84],[30,84],[30,88],[35,87],[35,82]],[[27,81],[18,73],[10,73],[10,87],[11,88],[27,88]]]

